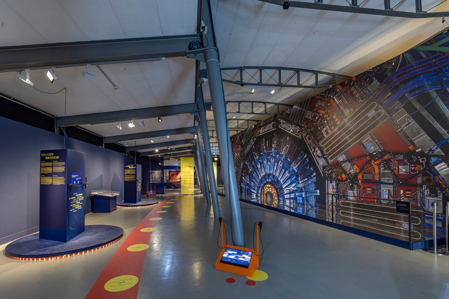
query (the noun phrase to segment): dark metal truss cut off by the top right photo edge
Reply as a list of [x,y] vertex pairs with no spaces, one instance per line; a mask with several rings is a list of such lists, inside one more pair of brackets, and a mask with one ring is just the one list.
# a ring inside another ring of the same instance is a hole
[[[354,14],[378,15],[386,17],[407,17],[407,18],[429,18],[429,17],[447,17],[449,12],[427,13],[422,10],[421,0],[415,0],[416,12],[395,11],[390,5],[390,0],[384,0],[384,9],[364,8],[360,7],[357,0],[351,0],[349,6],[324,4],[323,0],[315,0],[314,2],[286,1],[286,0],[259,0],[279,6],[283,6],[288,2],[289,7],[310,8],[319,10],[331,10],[337,12],[346,12]],[[287,8],[288,9],[288,8]]]

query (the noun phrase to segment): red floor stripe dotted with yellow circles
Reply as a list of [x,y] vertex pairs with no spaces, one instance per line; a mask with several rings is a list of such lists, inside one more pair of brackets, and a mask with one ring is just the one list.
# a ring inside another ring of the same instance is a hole
[[[143,261],[145,259],[146,250],[142,251],[128,251],[127,248],[134,244],[148,244],[150,241],[151,232],[140,232],[142,228],[154,227],[156,221],[162,220],[150,220],[153,217],[164,217],[165,213],[156,213],[162,210],[162,206],[167,203],[174,196],[169,197],[167,200],[159,203],[142,221],[136,226],[136,228],[126,238],[109,263],[104,268],[100,277],[90,289],[86,296],[86,299],[99,299],[99,298],[130,298],[135,299],[138,295],[138,288],[140,282],[140,275],[142,273]],[[138,278],[139,282],[124,291],[109,292],[104,289],[104,284],[110,279],[121,275],[134,275]]]

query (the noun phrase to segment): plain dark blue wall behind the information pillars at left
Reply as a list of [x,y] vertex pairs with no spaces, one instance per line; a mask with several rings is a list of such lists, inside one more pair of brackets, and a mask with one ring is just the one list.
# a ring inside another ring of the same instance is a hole
[[[0,128],[0,244],[4,244],[38,231],[40,150],[63,149],[64,137],[3,117]],[[134,157],[71,138],[66,138],[66,148],[86,153],[86,195],[108,189],[123,197],[123,166],[133,164]],[[87,197],[87,212],[91,200]]]

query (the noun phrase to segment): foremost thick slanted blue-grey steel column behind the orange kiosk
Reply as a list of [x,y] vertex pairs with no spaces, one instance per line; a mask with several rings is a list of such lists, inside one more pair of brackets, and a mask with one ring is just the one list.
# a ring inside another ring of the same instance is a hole
[[224,90],[220,63],[218,62],[217,49],[208,49],[204,52],[206,61],[207,79],[209,83],[210,98],[212,101],[212,112],[214,114],[215,127],[220,151],[220,161],[223,169],[223,182],[226,192],[226,200],[230,209],[231,234],[233,244],[240,247],[245,246],[243,234],[242,212],[240,210],[239,191],[235,176],[234,160],[229,139],[229,128],[226,117],[226,103],[224,101]]

